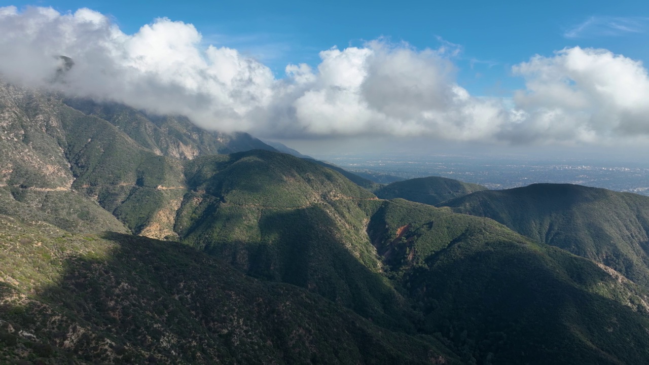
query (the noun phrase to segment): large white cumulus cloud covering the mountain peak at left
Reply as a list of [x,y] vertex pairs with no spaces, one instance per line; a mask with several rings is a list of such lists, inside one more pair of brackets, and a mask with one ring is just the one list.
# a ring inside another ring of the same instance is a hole
[[[10,81],[186,114],[204,127],[252,128],[247,114],[266,107],[273,95],[269,68],[235,49],[201,49],[193,25],[166,18],[128,35],[86,8],[71,14],[2,8],[0,34],[0,72]],[[75,64],[64,82],[52,84],[58,55]]]

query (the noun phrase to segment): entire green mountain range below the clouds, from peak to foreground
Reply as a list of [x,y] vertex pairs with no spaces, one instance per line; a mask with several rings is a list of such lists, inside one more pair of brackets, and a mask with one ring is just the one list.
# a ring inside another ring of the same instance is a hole
[[647,199],[382,185],[2,81],[0,362],[641,364]]

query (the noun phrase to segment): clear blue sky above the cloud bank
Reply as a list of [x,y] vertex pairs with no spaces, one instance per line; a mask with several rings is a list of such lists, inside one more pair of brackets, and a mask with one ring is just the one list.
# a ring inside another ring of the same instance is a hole
[[239,49],[282,77],[288,63],[387,37],[419,49],[453,44],[458,83],[474,95],[511,94],[511,66],[565,47],[604,48],[649,60],[648,1],[12,1],[19,8],[88,7],[137,32],[154,18],[197,27],[204,42]]

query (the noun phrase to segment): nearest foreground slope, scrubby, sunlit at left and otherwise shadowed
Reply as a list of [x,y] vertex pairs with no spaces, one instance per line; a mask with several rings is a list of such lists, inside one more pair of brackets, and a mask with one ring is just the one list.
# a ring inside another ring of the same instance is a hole
[[186,245],[0,216],[0,253],[3,364],[458,363]]

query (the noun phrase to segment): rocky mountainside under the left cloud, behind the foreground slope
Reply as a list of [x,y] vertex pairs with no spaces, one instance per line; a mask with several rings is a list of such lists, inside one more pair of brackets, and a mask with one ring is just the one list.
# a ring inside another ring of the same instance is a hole
[[175,212],[186,192],[182,160],[252,148],[273,150],[249,134],[202,131],[179,116],[62,99],[0,79],[5,214],[22,212],[71,231],[121,232],[125,225],[177,239]]

